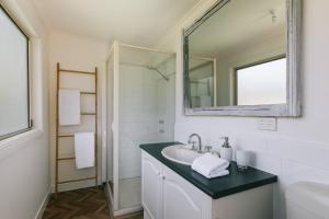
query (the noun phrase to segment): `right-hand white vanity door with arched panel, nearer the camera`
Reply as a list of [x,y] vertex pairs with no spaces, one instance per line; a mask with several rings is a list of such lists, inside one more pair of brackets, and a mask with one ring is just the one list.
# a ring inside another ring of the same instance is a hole
[[163,166],[162,219],[202,219],[203,197],[173,171]]

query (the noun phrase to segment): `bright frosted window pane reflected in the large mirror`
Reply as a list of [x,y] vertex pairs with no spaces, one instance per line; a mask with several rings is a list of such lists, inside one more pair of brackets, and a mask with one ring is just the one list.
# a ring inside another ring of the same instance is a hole
[[286,103],[286,59],[237,70],[237,104]]

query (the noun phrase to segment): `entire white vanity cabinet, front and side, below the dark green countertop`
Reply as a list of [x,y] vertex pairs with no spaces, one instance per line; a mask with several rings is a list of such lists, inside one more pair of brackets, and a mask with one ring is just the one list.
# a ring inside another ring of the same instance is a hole
[[272,185],[218,199],[195,187],[147,152],[141,152],[145,219],[271,219]]

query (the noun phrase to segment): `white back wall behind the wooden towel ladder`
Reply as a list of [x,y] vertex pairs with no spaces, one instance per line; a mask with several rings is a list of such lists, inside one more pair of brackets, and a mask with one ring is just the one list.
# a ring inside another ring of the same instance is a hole
[[[50,173],[52,173],[52,187],[55,186],[55,128],[56,128],[56,64],[60,62],[61,68],[72,70],[84,70],[94,71],[94,68],[99,69],[99,88],[98,88],[98,103],[99,103],[99,135],[98,135],[98,147],[99,147],[99,183],[101,176],[105,178],[105,160],[102,159],[102,120],[105,120],[102,116],[102,101],[104,95],[104,76],[105,76],[105,61],[109,47],[106,42],[95,41],[77,35],[69,35],[64,33],[50,33],[49,35],[49,131],[50,131]],[[73,87],[78,89],[86,89],[87,91],[94,91],[93,76],[81,76],[71,73],[61,73],[61,87]],[[92,111],[94,100],[92,96],[88,100],[88,96],[81,97],[81,107],[86,111]],[[88,105],[89,107],[88,110]],[[77,127],[65,127],[60,128],[61,132],[72,132],[73,130],[93,130],[94,117],[83,116],[82,125]],[[105,124],[104,124],[105,125]],[[61,139],[59,141],[59,154],[72,155],[73,153],[73,141],[72,138]],[[105,154],[104,154],[105,155]],[[101,172],[103,170],[103,172]],[[89,177],[94,175],[94,169],[76,171],[75,161],[60,161],[59,165],[59,180],[71,180],[80,177]],[[68,183],[59,186],[59,191],[72,189],[84,186],[93,186],[94,181],[86,181],[81,183]]]

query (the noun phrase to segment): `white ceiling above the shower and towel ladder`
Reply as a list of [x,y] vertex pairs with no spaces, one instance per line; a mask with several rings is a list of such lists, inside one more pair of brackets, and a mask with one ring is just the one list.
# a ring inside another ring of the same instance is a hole
[[198,0],[33,0],[50,31],[152,46]]

